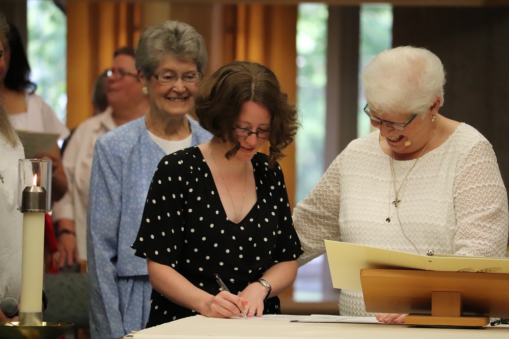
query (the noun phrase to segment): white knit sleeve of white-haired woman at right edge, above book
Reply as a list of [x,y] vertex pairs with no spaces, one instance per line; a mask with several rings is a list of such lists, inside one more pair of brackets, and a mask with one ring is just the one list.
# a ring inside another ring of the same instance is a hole
[[457,255],[504,257],[507,245],[507,191],[487,140],[477,143],[458,170],[454,199]]

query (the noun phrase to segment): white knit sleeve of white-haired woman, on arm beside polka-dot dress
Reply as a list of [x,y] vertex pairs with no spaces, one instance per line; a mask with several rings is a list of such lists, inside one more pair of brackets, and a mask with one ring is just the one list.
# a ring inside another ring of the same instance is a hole
[[341,240],[339,175],[340,157],[337,157],[315,188],[294,208],[293,222],[304,251],[299,266],[325,253],[324,239]]

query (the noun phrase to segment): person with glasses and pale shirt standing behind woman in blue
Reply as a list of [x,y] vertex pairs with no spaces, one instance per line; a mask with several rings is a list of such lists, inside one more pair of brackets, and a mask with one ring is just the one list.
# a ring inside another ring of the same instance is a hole
[[63,156],[69,189],[53,206],[53,221],[61,252],[60,266],[87,260],[87,205],[92,154],[97,138],[111,129],[147,114],[150,102],[143,94],[134,66],[134,49],[121,47],[104,71],[109,107],[82,122],[73,132]]

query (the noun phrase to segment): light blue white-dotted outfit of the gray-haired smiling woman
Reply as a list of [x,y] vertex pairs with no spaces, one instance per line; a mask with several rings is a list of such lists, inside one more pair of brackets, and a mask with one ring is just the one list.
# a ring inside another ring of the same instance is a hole
[[[212,137],[196,121],[189,119],[189,123],[192,145]],[[134,256],[130,246],[155,168],[165,155],[149,136],[145,117],[97,139],[87,218],[92,337],[122,337],[145,327],[150,303],[142,300],[143,291],[124,291],[125,280],[142,281],[129,285],[131,289],[151,290],[147,261]]]

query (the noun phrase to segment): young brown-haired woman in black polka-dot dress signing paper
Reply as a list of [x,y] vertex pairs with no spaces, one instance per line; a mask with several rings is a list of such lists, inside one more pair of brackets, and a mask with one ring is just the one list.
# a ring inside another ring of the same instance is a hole
[[[276,161],[293,141],[297,110],[274,73],[227,64],[203,80],[195,102],[214,137],[159,162],[132,245],[154,288],[147,327],[196,314],[279,314],[277,294],[302,253]],[[269,155],[257,153],[267,141]]]

